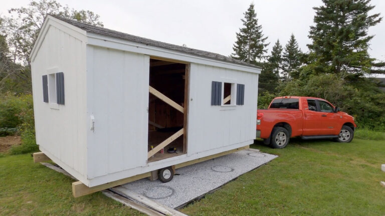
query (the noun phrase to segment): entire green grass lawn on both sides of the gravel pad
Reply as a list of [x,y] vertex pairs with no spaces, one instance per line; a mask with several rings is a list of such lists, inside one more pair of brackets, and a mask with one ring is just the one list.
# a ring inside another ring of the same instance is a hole
[[[385,215],[385,141],[291,139],[279,155],[180,211],[188,215]],[[0,215],[138,215],[102,193],[72,197],[72,179],[30,154],[0,157]]]

